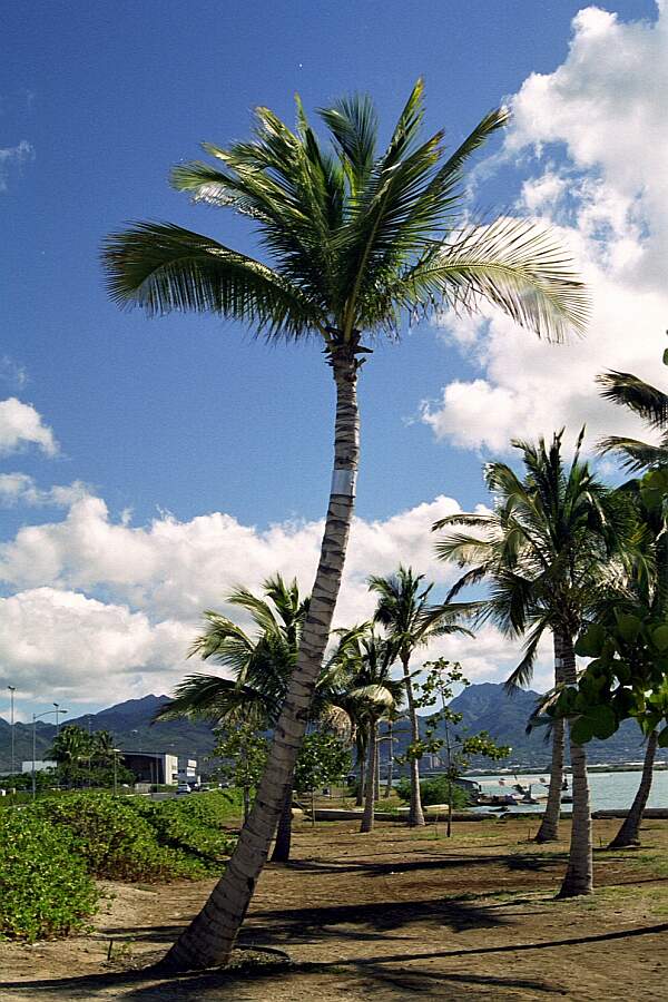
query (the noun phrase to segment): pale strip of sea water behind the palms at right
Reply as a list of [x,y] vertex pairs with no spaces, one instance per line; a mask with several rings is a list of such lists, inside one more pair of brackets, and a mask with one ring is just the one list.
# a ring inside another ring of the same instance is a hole
[[[640,783],[640,772],[623,772],[623,773],[590,773],[589,774],[589,787],[591,793],[591,809],[592,811],[623,811],[628,809],[636,796],[636,790],[638,789],[638,785]],[[550,778],[548,773],[537,773],[533,776],[514,776],[499,775],[498,773],[490,773],[484,776],[470,776],[469,778],[474,779],[477,783],[480,783],[483,792],[485,794],[503,794],[503,793],[514,793],[513,785],[515,783],[521,783],[522,786],[528,786],[532,784],[532,794],[537,796],[538,794],[546,794],[548,792],[547,786],[543,786],[540,783],[541,778],[548,779]],[[503,779],[503,783],[500,780]],[[571,792],[571,777],[568,776],[569,784],[569,793]],[[511,811],[522,811],[522,812],[533,812],[533,811],[543,811],[546,802],[542,800],[539,804],[523,804],[518,805],[518,807],[511,807]],[[647,802],[648,807],[668,807],[668,769],[657,769],[655,770],[651,792],[649,794],[649,800]],[[563,812],[568,813],[570,811],[570,804],[563,804]],[[479,809],[489,809],[489,808],[479,808]]]

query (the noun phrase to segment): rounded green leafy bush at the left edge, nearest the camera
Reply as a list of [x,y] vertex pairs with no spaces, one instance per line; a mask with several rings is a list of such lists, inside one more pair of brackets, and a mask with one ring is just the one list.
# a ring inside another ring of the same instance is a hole
[[98,893],[72,842],[31,809],[0,812],[0,939],[63,936],[95,912]]

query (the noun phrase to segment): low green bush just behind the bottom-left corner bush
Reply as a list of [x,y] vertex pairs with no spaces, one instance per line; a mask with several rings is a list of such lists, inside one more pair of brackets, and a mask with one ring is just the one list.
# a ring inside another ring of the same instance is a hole
[[129,798],[71,794],[43,800],[36,811],[71,833],[75,851],[94,876],[150,882],[206,875],[200,861],[160,845],[148,818]]

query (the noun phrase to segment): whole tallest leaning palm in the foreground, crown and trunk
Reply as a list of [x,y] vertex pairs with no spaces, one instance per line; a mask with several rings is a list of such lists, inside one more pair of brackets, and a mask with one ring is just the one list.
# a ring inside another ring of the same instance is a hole
[[213,313],[269,341],[315,341],[336,390],[334,471],[311,608],[255,807],[204,911],[166,957],[170,970],[229,957],[264,866],[304,736],[308,704],[327,644],[353,515],[358,462],[356,384],[370,348],[364,337],[399,336],[406,320],[491,303],[551,340],[581,331],[583,285],[549,234],[508,216],[481,225],[463,214],[462,171],[508,120],[485,115],[451,154],[443,134],[420,137],[419,81],[384,150],[367,97],[348,97],[320,116],[322,143],[297,100],[296,128],[267,108],[253,137],[227,149],[206,145],[213,163],[175,168],[174,185],[196,200],[255,224],[262,254],[250,257],[180,226],[140,223],[104,248],[109,292],[148,314]]

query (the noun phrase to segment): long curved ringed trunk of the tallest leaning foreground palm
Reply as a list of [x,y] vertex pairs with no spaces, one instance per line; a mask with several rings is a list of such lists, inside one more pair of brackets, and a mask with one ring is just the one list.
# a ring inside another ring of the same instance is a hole
[[297,664],[274,730],[267,765],[253,811],[239,834],[225,874],[202,912],[166,955],[163,966],[168,971],[202,970],[227,963],[246,917],[257,878],[265,865],[278,815],[292,782],[330,636],[353,519],[360,452],[355,347],[355,342],[346,343],[328,353],[336,384],[334,472],[330,504]]

